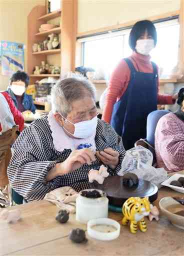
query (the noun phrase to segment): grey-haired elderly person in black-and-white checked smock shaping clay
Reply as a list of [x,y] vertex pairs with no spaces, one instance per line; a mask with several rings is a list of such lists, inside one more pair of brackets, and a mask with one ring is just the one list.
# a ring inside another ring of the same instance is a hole
[[[7,169],[11,187],[27,201],[55,188],[89,188],[88,173],[101,164],[110,175],[121,168],[121,137],[97,118],[94,85],[84,77],[59,80],[51,90],[52,109],[23,130],[12,146]],[[90,144],[89,148],[82,148]]]

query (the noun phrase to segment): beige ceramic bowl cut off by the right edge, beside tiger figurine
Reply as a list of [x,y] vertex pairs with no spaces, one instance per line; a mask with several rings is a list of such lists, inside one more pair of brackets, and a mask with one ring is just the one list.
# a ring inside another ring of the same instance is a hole
[[168,206],[171,206],[173,204],[178,204],[184,210],[184,205],[180,204],[170,196],[163,197],[159,201],[159,207],[161,212],[170,220],[170,222],[174,226],[184,230],[184,217],[167,210]]

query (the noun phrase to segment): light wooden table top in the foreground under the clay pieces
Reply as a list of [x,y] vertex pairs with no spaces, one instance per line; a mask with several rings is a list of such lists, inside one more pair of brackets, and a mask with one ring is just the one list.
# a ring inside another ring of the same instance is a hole
[[[154,205],[164,196],[181,195],[167,187],[158,191]],[[41,200],[13,206],[21,211],[21,220],[8,224],[0,220],[0,255],[174,255],[184,253],[184,232],[160,215],[159,221],[147,222],[147,231],[130,233],[121,226],[120,235],[113,241],[100,241],[90,237],[86,244],[75,244],[68,239],[72,228],[86,230],[86,225],[70,214],[67,223],[55,220],[57,208]],[[122,214],[110,212],[108,217],[121,221]],[[86,235],[87,236],[87,235]]]

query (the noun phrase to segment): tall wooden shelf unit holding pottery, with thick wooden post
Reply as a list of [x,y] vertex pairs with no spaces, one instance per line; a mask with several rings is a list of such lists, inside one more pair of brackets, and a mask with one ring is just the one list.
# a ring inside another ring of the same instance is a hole
[[[56,76],[54,74],[32,74],[34,66],[40,66],[41,61],[47,61],[52,64],[52,54],[59,54],[59,65],[61,73],[74,71],[75,69],[75,47],[76,47],[76,32],[77,32],[77,0],[63,1],[61,0],[61,9],[46,13],[46,6],[37,5],[28,14],[27,17],[27,72],[30,76],[30,84],[33,84],[39,77]],[[60,16],[60,27],[56,27],[47,31],[38,32],[41,24],[46,21]],[[61,34],[61,49],[46,50],[42,52],[32,52],[33,43],[38,43],[44,40],[44,36],[50,33]],[[50,57],[51,56],[51,57]],[[58,58],[57,56],[55,56]],[[53,56],[53,59],[55,59]],[[50,60],[50,61],[49,61]]]

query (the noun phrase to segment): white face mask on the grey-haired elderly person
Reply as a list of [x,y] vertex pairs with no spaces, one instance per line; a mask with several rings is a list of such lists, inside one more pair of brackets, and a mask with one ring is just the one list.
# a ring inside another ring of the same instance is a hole
[[[61,114],[60,114],[61,115]],[[62,116],[62,115],[61,115]],[[70,122],[71,121],[67,120],[64,116],[62,116],[65,120],[64,122]],[[87,121],[81,121],[81,122],[76,122],[72,123],[74,125],[74,133],[70,133],[67,131],[63,126],[63,129],[65,129],[69,134],[76,138],[88,138],[92,136],[92,134],[96,131],[96,126],[97,126],[97,115],[94,116],[92,119],[87,120]]]

